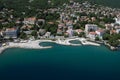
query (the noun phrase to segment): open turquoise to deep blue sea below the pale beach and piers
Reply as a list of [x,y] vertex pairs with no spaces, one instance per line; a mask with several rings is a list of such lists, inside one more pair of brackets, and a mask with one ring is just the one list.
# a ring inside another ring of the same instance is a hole
[[7,49],[0,55],[0,80],[120,80],[120,51],[104,46],[45,50]]

